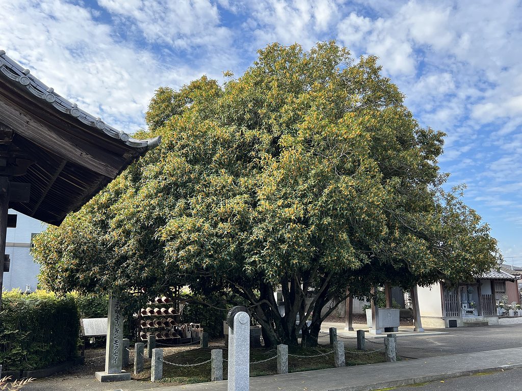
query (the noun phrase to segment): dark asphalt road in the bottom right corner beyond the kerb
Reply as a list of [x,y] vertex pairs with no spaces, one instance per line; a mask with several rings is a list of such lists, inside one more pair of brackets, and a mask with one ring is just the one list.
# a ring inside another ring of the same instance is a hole
[[522,388],[522,369],[457,377],[425,385],[393,388],[393,391],[519,391]]

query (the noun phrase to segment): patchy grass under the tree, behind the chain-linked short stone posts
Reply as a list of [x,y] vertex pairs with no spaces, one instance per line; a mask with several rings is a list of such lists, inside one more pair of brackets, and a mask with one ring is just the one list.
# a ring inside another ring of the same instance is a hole
[[[176,364],[197,364],[210,360],[212,349],[222,349],[223,358],[227,360],[228,350],[226,347],[210,347],[207,349],[191,349],[185,351],[167,352],[164,360]],[[333,347],[321,345],[316,348],[289,347],[288,370],[289,372],[314,371],[319,369],[334,368]],[[254,348],[250,351],[250,376],[265,376],[277,374],[277,351],[276,349],[265,350]],[[295,357],[300,356],[300,357]],[[346,364],[363,365],[384,361],[383,352],[361,353],[358,350],[347,349],[345,351]],[[265,361],[268,360],[268,361]],[[258,362],[263,361],[263,362]],[[150,361],[147,362],[145,371],[135,380],[150,380]],[[227,361],[223,362],[223,377],[227,379]],[[197,366],[175,366],[163,364],[163,379],[161,383],[173,385],[210,382],[210,362]]]

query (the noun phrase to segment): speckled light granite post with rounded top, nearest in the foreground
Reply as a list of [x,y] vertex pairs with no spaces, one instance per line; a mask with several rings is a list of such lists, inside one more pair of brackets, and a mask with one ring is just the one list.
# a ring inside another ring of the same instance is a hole
[[[250,315],[245,307],[229,312],[228,391],[250,389]],[[232,325],[232,327],[231,327]]]

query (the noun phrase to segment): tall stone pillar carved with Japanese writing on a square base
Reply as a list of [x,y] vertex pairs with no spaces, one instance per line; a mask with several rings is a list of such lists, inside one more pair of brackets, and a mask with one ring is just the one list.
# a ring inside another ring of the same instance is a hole
[[131,380],[131,374],[122,371],[123,360],[123,317],[120,300],[109,296],[109,312],[107,320],[107,343],[105,345],[105,371],[96,372],[100,382],[119,382]]

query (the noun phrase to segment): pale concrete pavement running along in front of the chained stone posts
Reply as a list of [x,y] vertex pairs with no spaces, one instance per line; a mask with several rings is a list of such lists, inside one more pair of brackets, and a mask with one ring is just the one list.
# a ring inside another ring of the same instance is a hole
[[[252,377],[252,391],[366,391],[522,368],[522,349],[502,349],[321,371]],[[227,382],[165,387],[162,391],[226,391]]]

